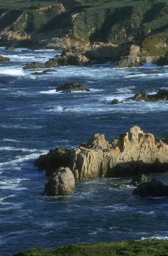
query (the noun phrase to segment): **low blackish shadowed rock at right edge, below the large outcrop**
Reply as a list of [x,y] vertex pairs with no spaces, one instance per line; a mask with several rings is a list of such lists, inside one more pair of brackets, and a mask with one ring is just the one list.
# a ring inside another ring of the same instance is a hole
[[153,179],[137,186],[137,188],[133,191],[133,195],[139,195],[141,197],[168,196],[168,186],[159,180]]

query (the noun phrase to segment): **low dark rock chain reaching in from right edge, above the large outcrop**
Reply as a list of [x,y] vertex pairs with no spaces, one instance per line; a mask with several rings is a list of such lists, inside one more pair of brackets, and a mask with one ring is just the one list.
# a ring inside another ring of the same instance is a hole
[[146,91],[141,93],[136,93],[134,97],[129,97],[121,102],[118,99],[113,99],[111,105],[128,102],[130,100],[134,101],[141,101],[144,100],[145,102],[158,102],[160,100],[167,101],[168,100],[168,90],[159,90],[156,94],[148,94]]

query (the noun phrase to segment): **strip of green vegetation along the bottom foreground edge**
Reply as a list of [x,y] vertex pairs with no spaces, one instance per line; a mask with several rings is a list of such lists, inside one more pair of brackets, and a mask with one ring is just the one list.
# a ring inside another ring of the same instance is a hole
[[168,256],[168,240],[83,243],[51,249],[34,247],[13,256]]

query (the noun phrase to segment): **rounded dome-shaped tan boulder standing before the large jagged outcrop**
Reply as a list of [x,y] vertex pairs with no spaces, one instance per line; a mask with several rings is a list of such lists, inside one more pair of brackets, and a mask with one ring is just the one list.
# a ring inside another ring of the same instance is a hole
[[75,191],[74,175],[69,168],[60,167],[48,180],[44,193],[47,195],[70,195]]

